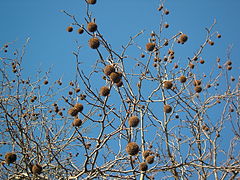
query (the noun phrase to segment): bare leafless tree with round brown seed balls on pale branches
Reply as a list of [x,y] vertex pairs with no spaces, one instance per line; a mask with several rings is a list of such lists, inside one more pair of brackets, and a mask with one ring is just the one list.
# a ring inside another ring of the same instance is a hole
[[189,37],[181,31],[163,37],[171,13],[164,1],[159,29],[144,43],[140,31],[121,52],[100,32],[96,3],[85,2],[86,22],[62,11],[72,21],[66,31],[86,36],[98,56],[84,69],[78,45],[69,85],[60,77],[49,82],[50,70],[25,78],[26,45],[1,57],[3,178],[237,178],[239,77],[231,77],[230,49],[211,72],[203,68],[203,52],[221,38],[216,21],[194,55],[177,62]]

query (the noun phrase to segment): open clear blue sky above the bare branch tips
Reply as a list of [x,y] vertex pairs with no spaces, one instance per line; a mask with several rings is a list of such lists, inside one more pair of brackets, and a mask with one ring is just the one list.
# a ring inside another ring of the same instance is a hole
[[[145,33],[138,43],[145,46],[150,32],[159,26],[158,4],[158,0],[98,0],[91,6],[91,11],[99,31],[120,52],[121,45],[141,30]],[[240,70],[240,0],[167,0],[166,8],[170,14],[165,21],[170,27],[163,35],[170,37],[182,31],[189,37],[176,60],[184,61],[193,56],[205,40],[205,27],[216,18],[214,30],[222,38],[214,40],[215,45],[208,46],[203,52],[202,57],[208,62],[204,68],[213,66],[217,56],[225,61],[226,50],[233,45],[231,74],[237,79]],[[26,38],[31,38],[23,61],[26,76],[34,76],[39,68],[47,71],[53,66],[50,80],[55,81],[61,76],[67,81],[73,79],[75,59],[72,51],[76,50],[76,40],[83,46],[80,53],[83,65],[94,64],[97,59],[96,52],[88,47],[88,36],[66,32],[66,27],[73,21],[60,10],[66,10],[86,24],[83,0],[0,0],[0,46],[16,41],[9,49],[21,48]],[[131,57],[140,54],[136,50],[129,52]]]

